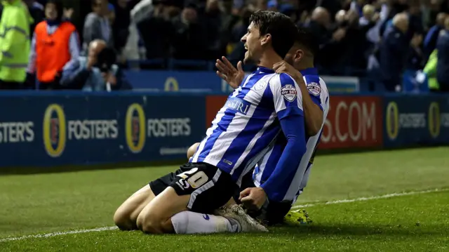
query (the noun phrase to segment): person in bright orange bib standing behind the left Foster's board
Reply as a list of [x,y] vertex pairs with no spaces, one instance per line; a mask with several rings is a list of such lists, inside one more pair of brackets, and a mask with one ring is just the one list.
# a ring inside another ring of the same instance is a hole
[[60,89],[63,71],[79,59],[79,38],[71,22],[63,20],[61,0],[48,0],[45,6],[46,20],[34,29],[32,50],[29,54],[28,81],[34,84],[31,74],[36,72],[39,89]]

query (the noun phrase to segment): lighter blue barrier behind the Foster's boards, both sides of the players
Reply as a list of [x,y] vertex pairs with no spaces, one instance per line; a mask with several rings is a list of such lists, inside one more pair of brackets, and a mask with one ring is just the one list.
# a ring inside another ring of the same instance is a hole
[[[233,89],[215,72],[128,70],[127,79],[137,91],[181,91],[187,93],[226,93]],[[248,75],[250,73],[246,73]],[[357,77],[322,77],[330,93],[358,93]]]

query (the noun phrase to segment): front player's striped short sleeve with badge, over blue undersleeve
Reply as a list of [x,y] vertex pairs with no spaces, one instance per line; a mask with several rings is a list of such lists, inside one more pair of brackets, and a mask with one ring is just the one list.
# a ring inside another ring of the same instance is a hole
[[290,115],[304,115],[302,111],[302,96],[299,86],[288,74],[276,75],[269,81],[273,93],[274,110],[279,119]]

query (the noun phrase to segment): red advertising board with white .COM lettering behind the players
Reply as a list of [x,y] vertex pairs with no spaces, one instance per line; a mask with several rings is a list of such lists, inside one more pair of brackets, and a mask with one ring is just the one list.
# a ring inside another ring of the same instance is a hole
[[[206,98],[206,127],[225,104],[227,96]],[[323,127],[320,149],[381,147],[382,98],[376,96],[330,96],[330,110]]]

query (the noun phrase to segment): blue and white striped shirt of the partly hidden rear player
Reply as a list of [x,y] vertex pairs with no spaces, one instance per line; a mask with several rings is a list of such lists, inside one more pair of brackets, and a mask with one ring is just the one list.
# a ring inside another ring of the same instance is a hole
[[[321,124],[321,130],[318,134],[311,136],[306,139],[307,151],[304,156],[301,157],[300,166],[297,168],[295,176],[289,181],[289,183],[283,184],[283,190],[285,192],[281,201],[296,201],[297,196],[302,192],[302,189],[307,185],[307,180],[309,178],[310,168],[313,163],[314,153],[316,146],[319,143],[321,137],[321,132],[323,131],[324,121],[329,111],[329,93],[326,83],[318,75],[318,72],[314,68],[304,69],[300,71],[304,77],[304,82],[307,85],[311,100],[319,105],[323,111],[323,124]],[[267,148],[266,154],[262,160],[257,162],[253,173],[253,181],[255,186],[260,187],[263,185],[268,178],[272,175],[276,165],[281,159],[282,152],[286,147],[286,138],[283,134],[280,134],[276,141]]]

